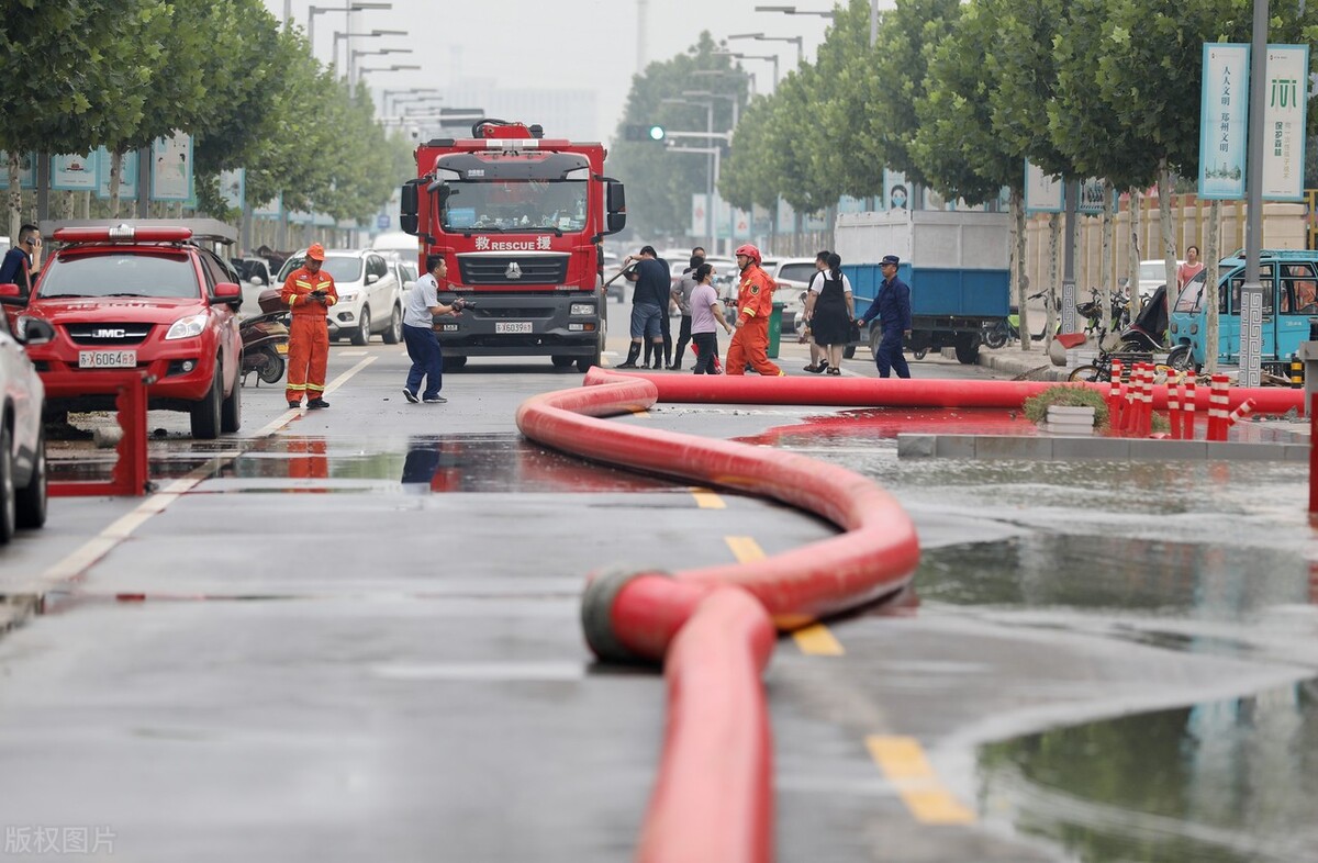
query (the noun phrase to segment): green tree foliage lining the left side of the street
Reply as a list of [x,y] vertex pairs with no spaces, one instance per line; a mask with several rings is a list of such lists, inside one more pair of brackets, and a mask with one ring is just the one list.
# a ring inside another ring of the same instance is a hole
[[9,153],[123,153],[187,132],[199,204],[216,215],[232,215],[217,194],[227,169],[248,169],[252,202],[282,192],[291,208],[357,220],[411,174],[410,145],[386,138],[369,95],[261,0],[11,0],[0,45]]

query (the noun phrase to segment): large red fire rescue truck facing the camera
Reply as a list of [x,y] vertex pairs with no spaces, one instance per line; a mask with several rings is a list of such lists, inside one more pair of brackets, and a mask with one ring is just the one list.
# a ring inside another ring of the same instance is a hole
[[471,138],[416,148],[399,224],[418,238],[418,266],[443,254],[435,319],[444,365],[468,357],[548,356],[581,372],[600,365],[608,327],[605,236],[626,227],[622,183],[604,175],[601,144],[546,138],[539,125],[482,119]]

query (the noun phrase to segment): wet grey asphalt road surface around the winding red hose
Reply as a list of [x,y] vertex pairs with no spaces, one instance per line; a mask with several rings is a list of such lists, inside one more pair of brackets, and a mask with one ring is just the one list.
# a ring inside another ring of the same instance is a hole
[[[585,573],[832,528],[527,444],[517,404],[580,385],[547,360],[473,361],[444,406],[407,404],[405,369],[335,347],[328,411],[248,389],[243,432],[210,444],[153,412],[156,495],[55,499],[0,551],[5,593],[46,594],[0,638],[0,859],[79,838],[130,860],[630,858],[664,685],[592,663]],[[1318,859],[1302,468],[900,462],[911,418],[887,411],[616,422],[838,461],[920,531],[915,592],[784,638],[768,669],[778,859]]]

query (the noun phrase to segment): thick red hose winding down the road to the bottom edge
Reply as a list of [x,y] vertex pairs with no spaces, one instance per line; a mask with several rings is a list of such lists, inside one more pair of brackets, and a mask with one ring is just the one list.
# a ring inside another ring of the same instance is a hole
[[601,659],[666,665],[668,733],[641,859],[771,860],[760,672],[774,625],[795,628],[903,588],[920,556],[915,526],[891,495],[837,465],[598,419],[651,407],[659,390],[598,369],[587,382],[594,386],[523,402],[518,428],[593,461],[771,497],[846,531],[746,564],[598,574],[583,598],[587,640]]

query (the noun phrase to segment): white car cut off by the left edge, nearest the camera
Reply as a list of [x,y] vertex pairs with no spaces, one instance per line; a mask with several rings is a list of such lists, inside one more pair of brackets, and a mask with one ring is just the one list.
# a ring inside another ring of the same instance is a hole
[[[18,295],[17,285],[0,287],[0,296]],[[46,390],[24,344],[40,347],[54,337],[43,320],[25,320],[22,333],[9,329],[0,314],[0,545],[14,528],[46,523],[46,436],[41,414]]]

